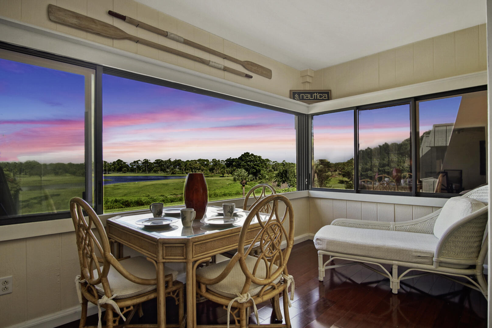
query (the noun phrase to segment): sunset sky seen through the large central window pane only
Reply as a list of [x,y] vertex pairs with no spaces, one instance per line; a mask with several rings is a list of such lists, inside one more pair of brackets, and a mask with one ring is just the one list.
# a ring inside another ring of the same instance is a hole
[[103,75],[103,158],[295,162],[294,115]]

